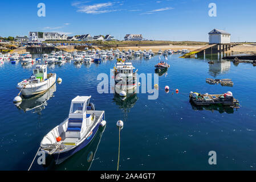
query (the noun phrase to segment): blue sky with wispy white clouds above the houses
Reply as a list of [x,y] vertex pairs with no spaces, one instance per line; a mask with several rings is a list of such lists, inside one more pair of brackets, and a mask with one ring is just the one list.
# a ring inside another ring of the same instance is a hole
[[[38,3],[46,5],[45,17],[38,17]],[[208,15],[209,3],[216,3],[217,17]],[[229,31],[233,42],[256,42],[255,6],[251,0],[1,1],[0,36],[47,31],[208,41],[208,32],[218,28]]]

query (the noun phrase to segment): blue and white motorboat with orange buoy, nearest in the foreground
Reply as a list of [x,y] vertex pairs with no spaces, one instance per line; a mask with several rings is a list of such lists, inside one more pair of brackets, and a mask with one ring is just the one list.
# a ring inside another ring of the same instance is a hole
[[56,164],[86,147],[99,127],[105,126],[105,111],[96,111],[90,98],[91,96],[74,98],[68,118],[43,138],[40,149],[51,155]]

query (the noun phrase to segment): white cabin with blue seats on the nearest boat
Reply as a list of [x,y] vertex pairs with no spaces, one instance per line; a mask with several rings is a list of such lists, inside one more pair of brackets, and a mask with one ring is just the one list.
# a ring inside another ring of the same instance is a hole
[[80,138],[89,127],[94,117],[87,114],[90,110],[91,96],[77,96],[71,102],[70,113],[68,115],[68,126],[66,138]]

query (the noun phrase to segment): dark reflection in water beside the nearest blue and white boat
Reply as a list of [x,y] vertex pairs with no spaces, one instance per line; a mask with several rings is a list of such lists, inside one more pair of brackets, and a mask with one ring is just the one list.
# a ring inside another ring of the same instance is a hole
[[46,157],[46,164],[43,165],[43,168],[48,171],[81,171],[86,170],[89,171],[92,165],[92,162],[94,161],[95,154],[97,151],[97,148],[99,147],[101,137],[104,133],[105,126],[99,127],[99,130],[95,134],[95,137],[91,140],[91,142],[88,144],[88,146],[84,147],[82,150],[77,152],[75,155],[72,155],[67,160],[64,160],[64,162],[60,164],[55,164],[54,158],[52,156],[48,155]]

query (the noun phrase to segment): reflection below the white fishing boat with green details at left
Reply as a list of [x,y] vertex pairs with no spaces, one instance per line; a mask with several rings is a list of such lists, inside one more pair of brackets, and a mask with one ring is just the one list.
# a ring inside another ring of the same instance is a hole
[[22,102],[20,105],[17,105],[17,108],[22,109],[25,113],[31,110],[32,113],[40,114],[40,112],[47,106],[47,101],[50,100],[55,91],[56,84],[52,85],[51,88],[44,93],[30,98],[22,98]]

